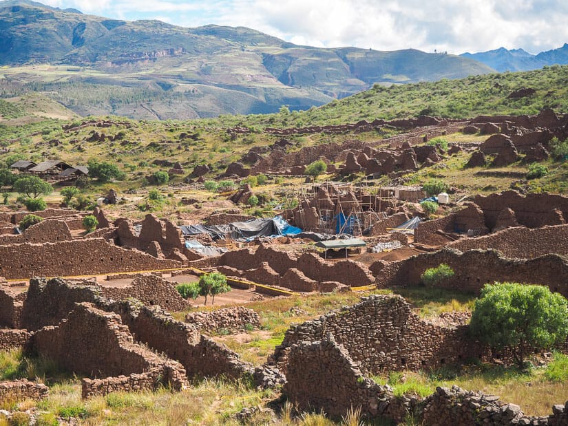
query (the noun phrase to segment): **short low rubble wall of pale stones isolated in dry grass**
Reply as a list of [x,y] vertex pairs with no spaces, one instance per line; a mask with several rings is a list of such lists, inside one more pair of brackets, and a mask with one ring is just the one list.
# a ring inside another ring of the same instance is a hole
[[258,314],[244,306],[222,308],[211,312],[191,312],[185,316],[185,321],[208,332],[220,329],[238,332],[245,330],[247,326],[251,328],[260,327]]

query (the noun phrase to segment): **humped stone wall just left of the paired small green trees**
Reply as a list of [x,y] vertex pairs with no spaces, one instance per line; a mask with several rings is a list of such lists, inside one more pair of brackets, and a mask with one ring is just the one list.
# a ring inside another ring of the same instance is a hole
[[173,312],[189,307],[189,302],[181,297],[170,281],[151,274],[135,278],[132,284],[126,287],[101,286],[101,291],[109,299],[134,297],[145,305],[159,305]]

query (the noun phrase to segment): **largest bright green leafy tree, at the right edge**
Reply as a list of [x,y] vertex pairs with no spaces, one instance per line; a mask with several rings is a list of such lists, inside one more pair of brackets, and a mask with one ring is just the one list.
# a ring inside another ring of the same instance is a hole
[[470,328],[493,348],[510,348],[520,367],[529,350],[549,348],[568,335],[568,301],[545,286],[486,284]]

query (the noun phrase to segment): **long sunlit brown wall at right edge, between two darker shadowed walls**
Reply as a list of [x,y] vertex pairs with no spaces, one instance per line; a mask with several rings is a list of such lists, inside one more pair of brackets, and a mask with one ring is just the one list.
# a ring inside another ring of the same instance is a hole
[[508,228],[491,235],[460,239],[448,244],[448,248],[459,251],[494,248],[506,257],[532,259],[549,253],[568,255],[567,242],[568,224],[536,229]]

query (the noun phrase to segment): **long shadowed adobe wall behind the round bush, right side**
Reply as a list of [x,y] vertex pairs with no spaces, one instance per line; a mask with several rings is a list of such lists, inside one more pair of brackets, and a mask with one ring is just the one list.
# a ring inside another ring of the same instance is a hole
[[370,269],[377,277],[379,288],[419,286],[424,271],[440,264],[450,266],[454,270],[454,277],[437,284],[437,287],[478,294],[487,283],[514,281],[548,286],[550,290],[568,297],[568,259],[559,255],[509,259],[494,250],[462,253],[444,248],[436,253],[423,253],[399,262],[375,262]]

